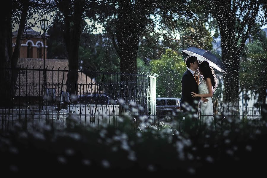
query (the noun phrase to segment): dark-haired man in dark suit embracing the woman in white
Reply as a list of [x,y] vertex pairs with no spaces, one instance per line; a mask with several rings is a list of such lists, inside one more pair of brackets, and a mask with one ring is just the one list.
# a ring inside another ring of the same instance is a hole
[[198,60],[194,56],[190,56],[185,60],[187,70],[182,76],[182,97],[181,110],[185,115],[191,115],[192,121],[197,120],[198,103],[201,100],[203,103],[208,101],[207,98],[192,97],[192,93],[198,93],[198,79],[195,70],[198,69]]

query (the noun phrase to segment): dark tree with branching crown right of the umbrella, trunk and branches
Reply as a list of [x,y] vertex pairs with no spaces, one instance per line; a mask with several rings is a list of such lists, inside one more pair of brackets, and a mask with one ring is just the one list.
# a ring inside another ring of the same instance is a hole
[[[199,1],[198,1],[199,2]],[[224,75],[223,100],[225,104],[239,106],[240,56],[255,21],[266,24],[266,2],[201,1],[206,13],[216,20],[221,36],[222,61],[228,74]],[[263,13],[260,13],[260,9]]]

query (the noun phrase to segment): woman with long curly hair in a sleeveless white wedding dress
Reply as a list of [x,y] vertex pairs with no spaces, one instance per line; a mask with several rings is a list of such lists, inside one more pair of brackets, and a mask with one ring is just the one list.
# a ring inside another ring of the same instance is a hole
[[[218,86],[217,77],[213,71],[213,69],[209,66],[209,62],[203,61],[199,64],[199,73],[202,76],[202,81],[198,85],[198,93],[192,93],[192,97],[203,97],[207,98],[209,101],[207,103],[200,102],[200,113],[201,115],[201,122],[205,123],[206,125],[214,128],[214,120],[213,120],[213,104],[212,98],[213,92]],[[209,115],[209,116],[206,116]]]

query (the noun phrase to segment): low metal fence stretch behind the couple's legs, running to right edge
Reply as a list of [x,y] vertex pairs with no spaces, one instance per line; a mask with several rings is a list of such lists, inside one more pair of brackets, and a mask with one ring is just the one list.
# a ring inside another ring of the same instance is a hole
[[[198,128],[201,128],[206,123],[209,123],[211,128],[218,130],[223,130],[223,126],[225,127],[228,123],[246,123],[247,121],[257,122],[267,120],[267,109],[266,104],[264,107],[243,107],[243,106],[229,106],[227,104],[222,104],[222,106],[214,107],[212,115],[206,115],[200,112],[190,113],[185,115],[179,109],[172,110],[172,112],[168,112],[168,114],[157,115],[157,118],[160,118],[160,121],[169,122],[174,128],[177,128],[178,131],[185,126],[185,117],[192,118],[192,116],[196,119],[192,119],[196,121]],[[211,122],[212,120],[212,122]],[[213,122],[214,121],[214,122]],[[196,124],[195,123],[195,124]]]

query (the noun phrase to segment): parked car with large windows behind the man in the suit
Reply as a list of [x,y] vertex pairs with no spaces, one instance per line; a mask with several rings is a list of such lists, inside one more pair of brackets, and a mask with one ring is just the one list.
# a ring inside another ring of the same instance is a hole
[[176,115],[180,112],[181,98],[157,98],[156,114],[159,117],[166,115]]

